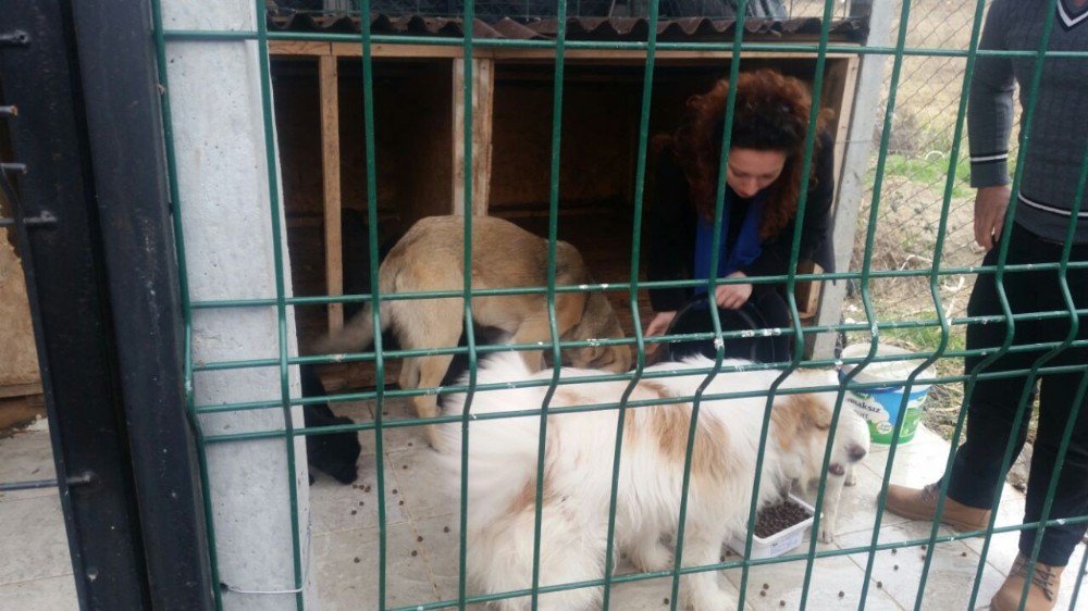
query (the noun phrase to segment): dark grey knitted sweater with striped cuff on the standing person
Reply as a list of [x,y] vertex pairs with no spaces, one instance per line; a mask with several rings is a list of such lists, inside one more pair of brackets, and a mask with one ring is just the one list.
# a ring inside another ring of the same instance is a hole
[[[1051,51],[1088,51],[1088,5],[1059,0],[993,0],[982,30],[982,49],[1037,51],[1046,18],[1058,20]],[[1013,85],[1026,110],[1035,57],[979,55],[970,87],[967,127],[973,187],[1004,185],[1009,177],[1009,137],[1013,125]],[[1015,222],[1039,237],[1064,241],[1080,167],[1088,151],[1088,59],[1048,58],[1029,141],[1019,149],[1024,164]],[[1088,201],[1077,219],[1076,244],[1088,242]]]

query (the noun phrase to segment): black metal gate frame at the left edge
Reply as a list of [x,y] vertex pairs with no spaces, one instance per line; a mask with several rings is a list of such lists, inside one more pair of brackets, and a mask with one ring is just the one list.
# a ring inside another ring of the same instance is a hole
[[211,609],[150,5],[4,1],[0,82],[79,604]]

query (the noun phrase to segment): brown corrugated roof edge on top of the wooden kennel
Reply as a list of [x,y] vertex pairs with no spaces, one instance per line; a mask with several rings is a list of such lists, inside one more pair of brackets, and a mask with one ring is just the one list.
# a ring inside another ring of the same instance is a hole
[[[362,20],[358,15],[295,13],[270,14],[269,27],[280,32],[359,33]],[[718,40],[731,41],[737,21],[733,18],[678,17],[657,23],[657,40],[663,42]],[[474,20],[475,38],[511,38],[521,40],[554,39],[558,27],[555,18],[496,21]],[[789,40],[819,36],[820,20],[802,17],[792,20],[747,18],[744,21],[745,39]],[[867,34],[867,22],[846,17],[831,23],[832,40],[862,41]],[[374,14],[370,18],[371,34],[410,36],[462,37],[463,20],[421,15]],[[646,40],[650,22],[644,17],[571,17],[567,20],[568,40]]]

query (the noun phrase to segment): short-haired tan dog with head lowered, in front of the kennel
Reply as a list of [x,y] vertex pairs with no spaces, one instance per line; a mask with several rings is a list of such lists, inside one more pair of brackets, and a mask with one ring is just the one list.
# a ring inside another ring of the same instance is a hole
[[[465,286],[465,219],[429,216],[416,223],[393,247],[379,271],[382,295],[461,290]],[[567,242],[556,244],[556,286],[592,283],[581,254]],[[547,285],[547,240],[493,216],[472,220],[472,288],[543,287]],[[623,332],[601,291],[558,292],[556,324],[562,340],[621,338]],[[382,331],[392,327],[400,348],[453,348],[461,336],[463,299],[411,299],[381,304]],[[474,297],[473,321],[505,332],[512,344],[552,341],[547,301],[543,294]],[[333,336],[317,344],[319,352],[361,350],[374,339],[372,306],[367,306]],[[533,370],[542,367],[543,351],[521,352]],[[452,354],[412,357],[400,367],[401,388],[438,386]],[[627,346],[564,350],[564,361],[577,367],[626,372]],[[412,398],[422,417],[437,415],[437,397]],[[433,445],[433,432],[428,431]]]

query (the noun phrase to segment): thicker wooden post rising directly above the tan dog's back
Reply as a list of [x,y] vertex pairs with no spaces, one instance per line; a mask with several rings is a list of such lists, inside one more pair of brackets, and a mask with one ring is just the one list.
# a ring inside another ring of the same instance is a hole
[[[454,214],[465,214],[465,60],[454,62]],[[491,195],[495,62],[472,60],[472,214],[487,214]]]

